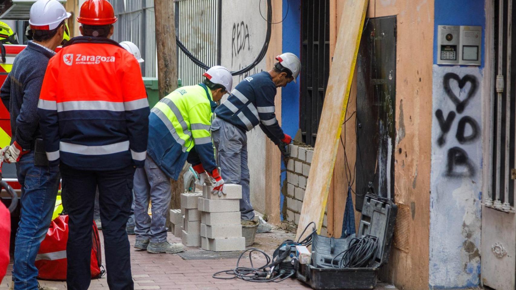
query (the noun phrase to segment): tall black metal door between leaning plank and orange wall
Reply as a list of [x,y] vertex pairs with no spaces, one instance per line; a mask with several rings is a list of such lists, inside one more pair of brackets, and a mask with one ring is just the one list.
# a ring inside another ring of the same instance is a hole
[[366,21],[357,67],[355,204],[361,211],[368,191],[394,198],[396,16]]

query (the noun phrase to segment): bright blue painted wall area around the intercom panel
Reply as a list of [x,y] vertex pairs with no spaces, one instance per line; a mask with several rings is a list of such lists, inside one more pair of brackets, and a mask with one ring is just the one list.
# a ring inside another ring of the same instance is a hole
[[437,26],[438,25],[470,25],[482,26],[483,67],[486,30],[486,3],[484,0],[435,0],[434,1],[434,28],[433,28],[433,63],[437,64]]

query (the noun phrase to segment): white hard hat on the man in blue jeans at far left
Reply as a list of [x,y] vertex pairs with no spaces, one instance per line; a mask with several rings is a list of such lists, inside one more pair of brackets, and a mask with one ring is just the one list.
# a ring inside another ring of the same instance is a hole
[[30,7],[30,29],[56,29],[61,21],[72,14],[66,12],[65,7],[57,0],[38,0]]

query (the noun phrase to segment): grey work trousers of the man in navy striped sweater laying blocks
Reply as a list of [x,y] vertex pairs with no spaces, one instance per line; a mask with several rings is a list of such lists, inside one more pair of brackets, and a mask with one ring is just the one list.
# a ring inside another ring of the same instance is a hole
[[249,188],[249,167],[247,166],[246,131],[221,118],[212,122],[212,138],[219,152],[220,175],[225,183],[242,186],[240,218],[254,219]]

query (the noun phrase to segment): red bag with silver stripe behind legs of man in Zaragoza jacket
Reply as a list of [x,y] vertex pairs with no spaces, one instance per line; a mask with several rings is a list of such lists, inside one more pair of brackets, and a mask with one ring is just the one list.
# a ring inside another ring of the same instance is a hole
[[[101,245],[99,231],[95,223],[93,225],[92,247],[91,247],[91,278],[99,278],[104,275],[102,267]],[[36,256],[36,267],[38,278],[45,280],[66,280],[67,258],[66,244],[68,241],[68,215],[60,215],[50,223],[49,231],[41,242],[38,255]]]

